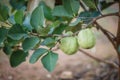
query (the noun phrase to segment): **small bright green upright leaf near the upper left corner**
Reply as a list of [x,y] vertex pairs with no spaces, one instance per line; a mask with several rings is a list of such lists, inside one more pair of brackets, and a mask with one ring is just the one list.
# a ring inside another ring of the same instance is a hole
[[16,13],[15,13],[15,22],[17,24],[22,24],[23,23],[23,17],[24,17],[24,11],[23,10],[18,10]]

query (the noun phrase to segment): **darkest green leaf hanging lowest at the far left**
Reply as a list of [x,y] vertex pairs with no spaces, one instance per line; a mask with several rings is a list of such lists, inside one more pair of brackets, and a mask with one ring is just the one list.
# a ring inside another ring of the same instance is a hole
[[14,51],[10,56],[10,65],[16,67],[26,60],[28,52],[22,50]]

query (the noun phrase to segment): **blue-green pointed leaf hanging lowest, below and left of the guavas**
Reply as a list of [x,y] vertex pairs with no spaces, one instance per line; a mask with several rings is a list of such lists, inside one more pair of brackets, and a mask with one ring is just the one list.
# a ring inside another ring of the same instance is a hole
[[54,53],[54,52],[48,52],[47,55],[45,55],[41,61],[42,61],[42,64],[43,66],[49,71],[53,71],[55,66],[56,66],[56,63],[57,63],[57,60],[58,60],[58,54]]

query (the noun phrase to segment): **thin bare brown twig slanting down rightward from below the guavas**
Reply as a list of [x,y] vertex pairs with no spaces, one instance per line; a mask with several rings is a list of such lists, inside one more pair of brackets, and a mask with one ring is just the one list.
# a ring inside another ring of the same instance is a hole
[[115,67],[116,69],[119,68],[115,63],[112,63],[112,62],[105,61],[105,60],[102,60],[102,59],[100,59],[100,58],[94,57],[94,56],[90,55],[90,53],[88,53],[88,52],[86,52],[86,51],[84,51],[84,50],[82,50],[82,49],[79,49],[79,51],[82,52],[83,54],[89,56],[90,58],[95,59],[95,60],[98,61],[98,62],[103,62],[103,63],[109,64],[109,65]]

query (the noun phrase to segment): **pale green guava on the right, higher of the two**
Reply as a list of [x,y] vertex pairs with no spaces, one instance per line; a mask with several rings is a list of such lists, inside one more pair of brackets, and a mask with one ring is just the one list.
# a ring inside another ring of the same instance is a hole
[[83,29],[78,33],[78,44],[81,48],[90,49],[95,43],[95,35],[91,29]]

